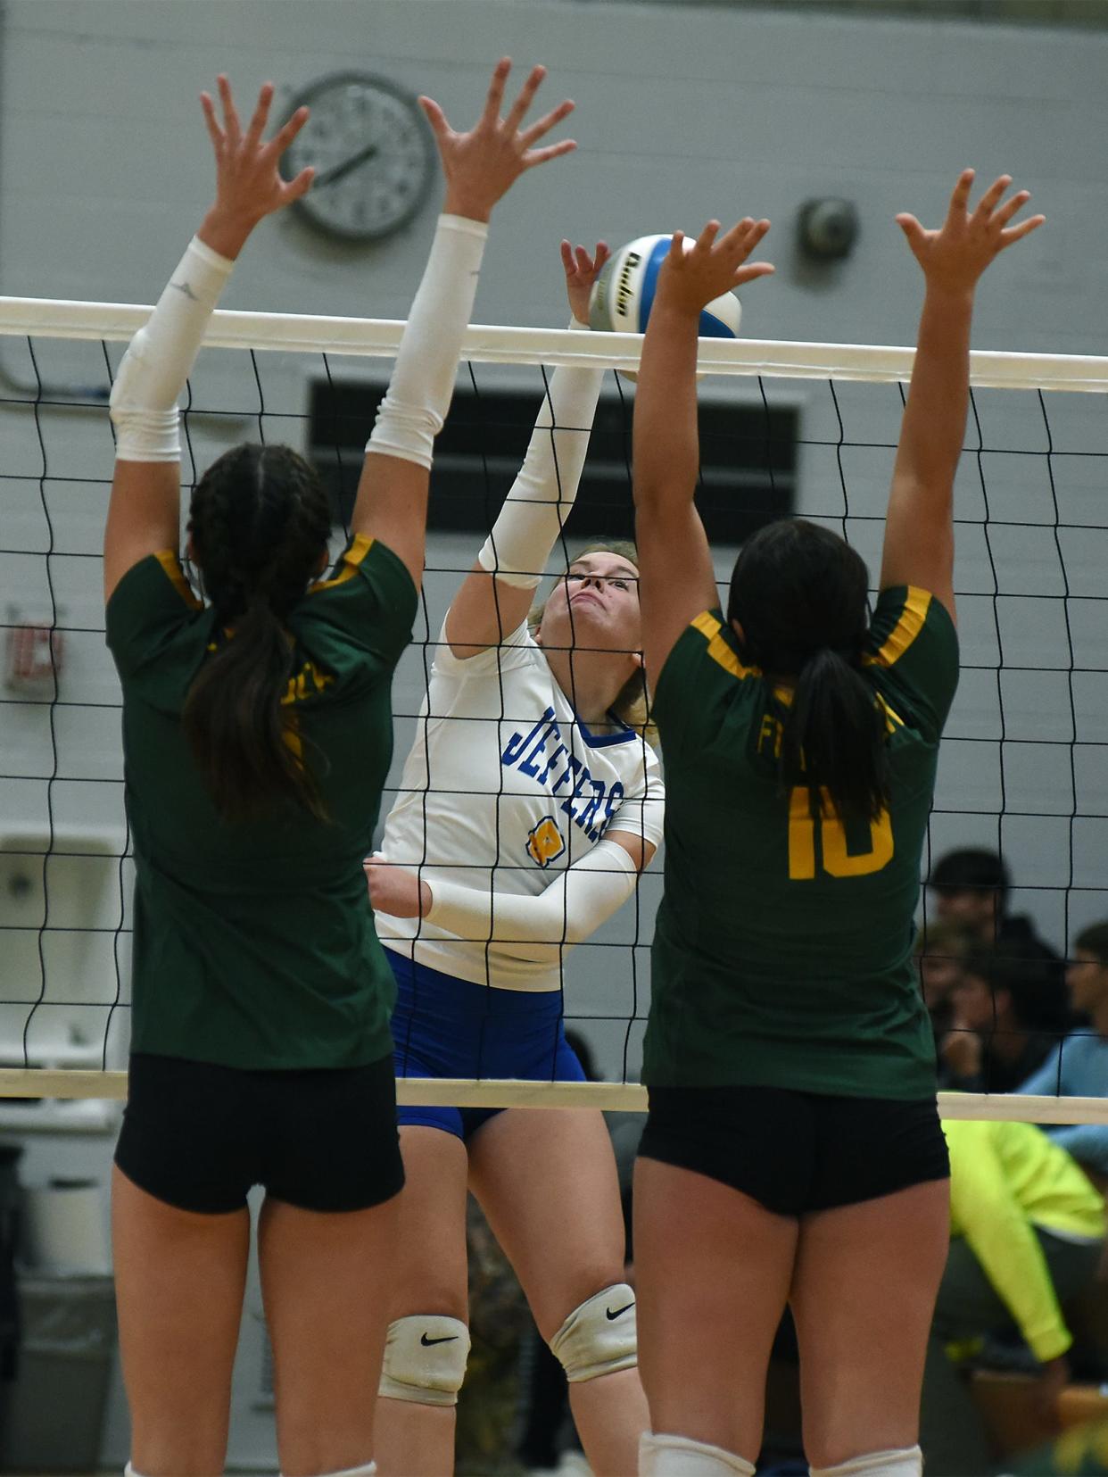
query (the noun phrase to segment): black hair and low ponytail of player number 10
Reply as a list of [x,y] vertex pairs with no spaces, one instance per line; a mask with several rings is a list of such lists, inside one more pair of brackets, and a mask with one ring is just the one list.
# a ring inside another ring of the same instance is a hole
[[844,818],[876,820],[888,803],[885,715],[861,675],[869,572],[841,538],[804,518],[771,523],[743,548],[728,620],[748,660],[795,684],[783,722],[780,778],[824,792]]

